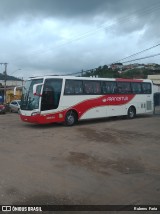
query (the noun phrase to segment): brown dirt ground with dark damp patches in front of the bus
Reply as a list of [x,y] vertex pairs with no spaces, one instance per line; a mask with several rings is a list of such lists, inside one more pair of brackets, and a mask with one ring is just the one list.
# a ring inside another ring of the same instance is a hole
[[160,204],[160,115],[74,127],[0,115],[0,202]]

